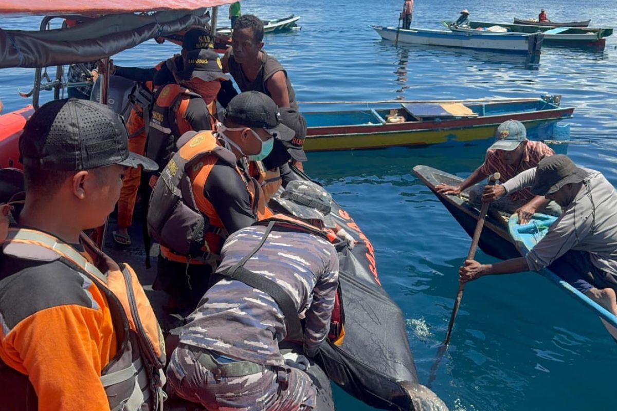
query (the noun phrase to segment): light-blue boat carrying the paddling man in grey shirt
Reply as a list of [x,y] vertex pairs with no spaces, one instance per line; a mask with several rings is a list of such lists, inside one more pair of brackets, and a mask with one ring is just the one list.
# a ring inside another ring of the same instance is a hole
[[[511,216],[508,221],[508,229],[510,230],[510,235],[518,251],[520,251],[522,255],[529,253],[529,251],[544,238],[549,231],[549,227],[555,220],[557,220],[557,217],[547,216],[545,214],[534,214],[534,217],[528,224],[519,225],[516,214]],[[602,320],[602,324],[607,328],[613,339],[617,341],[617,317],[615,315],[595,303],[595,301],[592,301],[592,299],[581,293],[581,291],[576,290],[576,288],[562,280],[550,269],[544,268],[540,270],[540,274],[557,284],[562,290],[566,291],[566,293],[578,299],[578,301],[598,314],[600,320]]]

